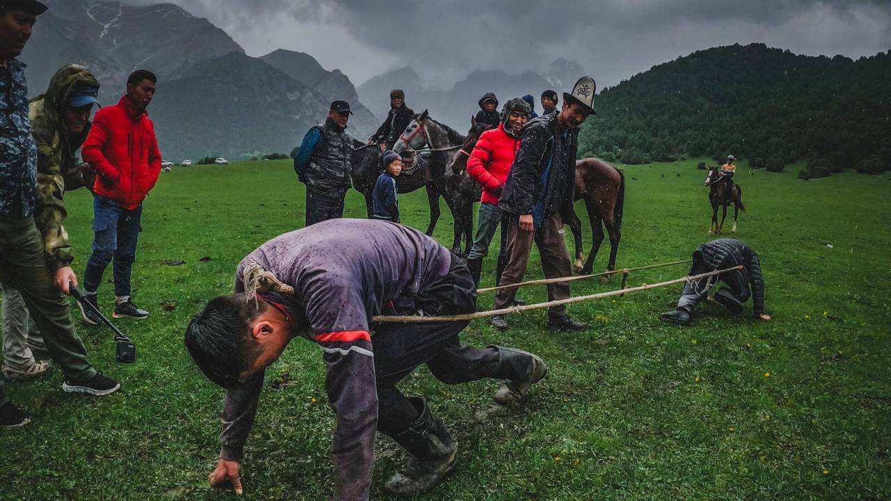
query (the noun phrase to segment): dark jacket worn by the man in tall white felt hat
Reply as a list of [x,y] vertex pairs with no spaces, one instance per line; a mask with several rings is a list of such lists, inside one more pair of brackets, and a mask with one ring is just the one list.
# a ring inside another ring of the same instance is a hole
[[557,115],[531,120],[504,182],[498,206],[514,216],[532,214],[535,225],[560,213],[566,219],[575,196],[578,129],[562,129]]

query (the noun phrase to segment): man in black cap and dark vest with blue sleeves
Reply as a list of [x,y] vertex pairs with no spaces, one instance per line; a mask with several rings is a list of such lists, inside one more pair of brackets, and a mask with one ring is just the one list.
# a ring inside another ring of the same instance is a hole
[[323,125],[309,129],[294,157],[294,171],[307,185],[307,225],[343,218],[343,201],[353,185],[350,157],[353,136],[347,121],[353,112],[346,101],[334,101]]

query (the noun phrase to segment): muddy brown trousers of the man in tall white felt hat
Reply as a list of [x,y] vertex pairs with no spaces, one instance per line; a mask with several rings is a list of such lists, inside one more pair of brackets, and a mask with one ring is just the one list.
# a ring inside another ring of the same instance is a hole
[[[509,216],[507,219],[507,267],[499,285],[511,285],[520,283],[526,275],[529,261],[529,253],[532,244],[538,247],[538,253],[542,259],[542,271],[545,278],[563,278],[572,275],[572,264],[569,261],[569,252],[564,238],[563,218],[554,214],[544,219],[541,226],[535,232],[526,232],[519,229],[519,218]],[[513,304],[517,296],[517,289],[502,289],[495,296],[495,309],[507,308]],[[569,297],[568,283],[551,283],[548,285],[548,300],[566,300]],[[555,306],[548,309],[551,316],[565,316],[565,306]]]

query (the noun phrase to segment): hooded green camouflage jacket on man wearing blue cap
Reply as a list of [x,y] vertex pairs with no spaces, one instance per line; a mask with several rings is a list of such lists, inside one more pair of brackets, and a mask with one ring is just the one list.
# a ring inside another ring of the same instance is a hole
[[65,178],[77,169],[75,152],[86,139],[89,124],[77,136],[69,133],[63,119],[64,106],[76,86],[99,86],[93,74],[83,66],[69,64],[57,71],[46,94],[31,100],[29,118],[37,143],[37,207],[34,221],[44,238],[49,266],[70,266],[74,257],[62,221],[68,213],[62,195]]

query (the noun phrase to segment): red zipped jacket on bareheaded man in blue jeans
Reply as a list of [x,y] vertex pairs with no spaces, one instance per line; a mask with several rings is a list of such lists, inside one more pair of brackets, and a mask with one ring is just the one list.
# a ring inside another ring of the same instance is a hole
[[155,127],[126,95],[96,112],[81,154],[98,174],[94,193],[124,209],[139,207],[158,182],[161,154]]

